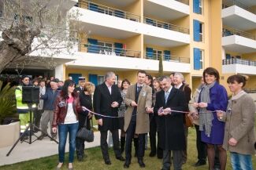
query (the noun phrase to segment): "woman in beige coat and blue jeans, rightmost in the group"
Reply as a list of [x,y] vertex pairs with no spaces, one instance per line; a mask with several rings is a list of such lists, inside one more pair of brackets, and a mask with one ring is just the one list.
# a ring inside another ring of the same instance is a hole
[[232,98],[228,101],[226,112],[217,112],[219,120],[226,123],[223,147],[230,151],[234,170],[253,169],[251,155],[255,154],[255,104],[250,95],[243,91],[246,81],[244,76],[237,74],[228,78]]

